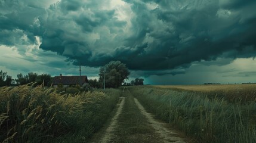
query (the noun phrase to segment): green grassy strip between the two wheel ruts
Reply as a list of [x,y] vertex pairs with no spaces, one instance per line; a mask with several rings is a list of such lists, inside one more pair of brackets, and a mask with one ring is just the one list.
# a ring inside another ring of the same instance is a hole
[[125,90],[124,97],[126,99],[118,118],[118,128],[110,142],[161,142],[146,117],[140,113],[132,95]]

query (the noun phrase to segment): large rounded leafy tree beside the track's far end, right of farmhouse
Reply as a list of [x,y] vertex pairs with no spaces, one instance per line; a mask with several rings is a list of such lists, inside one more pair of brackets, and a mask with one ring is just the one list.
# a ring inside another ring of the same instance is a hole
[[103,83],[104,74],[106,88],[118,88],[125,79],[129,79],[129,70],[121,61],[110,61],[104,67],[100,68],[99,81],[101,83]]

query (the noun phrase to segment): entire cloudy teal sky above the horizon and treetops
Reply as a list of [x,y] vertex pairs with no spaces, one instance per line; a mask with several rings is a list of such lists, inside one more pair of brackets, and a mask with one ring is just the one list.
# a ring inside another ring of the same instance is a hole
[[255,0],[0,0],[0,70],[147,84],[256,82]]

